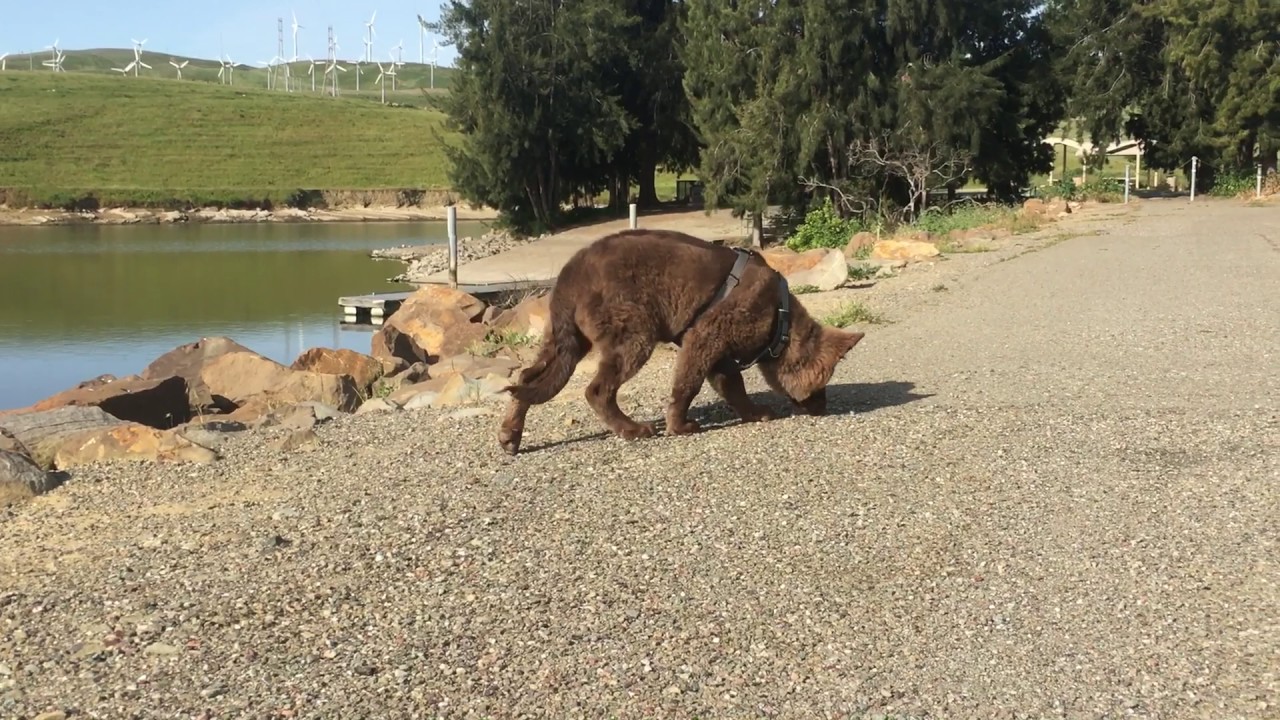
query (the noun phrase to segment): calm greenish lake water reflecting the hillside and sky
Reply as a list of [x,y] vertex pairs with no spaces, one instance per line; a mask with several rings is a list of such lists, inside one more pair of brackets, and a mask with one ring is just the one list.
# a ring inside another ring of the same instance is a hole
[[0,227],[0,409],[204,336],[285,364],[314,346],[369,352],[338,297],[410,290],[387,281],[402,263],[369,251],[444,241],[443,222]]

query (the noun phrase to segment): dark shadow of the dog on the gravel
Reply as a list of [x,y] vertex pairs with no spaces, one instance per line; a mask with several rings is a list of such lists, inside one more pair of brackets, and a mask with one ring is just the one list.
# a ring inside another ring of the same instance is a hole
[[[714,395],[710,388],[704,388],[704,393],[709,393],[712,400],[696,402],[689,411],[689,419],[696,421],[701,425],[703,432],[719,430],[722,428],[728,428],[740,424],[741,420],[730,406],[718,396]],[[796,410],[795,405],[791,405],[787,400],[780,397],[777,393],[771,391],[749,393],[751,401],[773,410],[774,416],[778,419],[800,415],[803,413]],[[705,397],[705,395],[703,396]],[[933,397],[932,393],[922,395],[915,392],[915,383],[908,380],[887,380],[881,383],[845,383],[845,384],[831,384],[827,386],[827,415],[847,415],[850,413],[874,413],[876,410],[883,410],[887,407],[896,407],[899,405],[906,405],[909,402],[915,402],[916,400],[924,400],[927,397]],[[594,415],[593,415],[594,419]],[[649,418],[637,416],[636,420],[648,420]],[[652,419],[654,429],[658,430],[658,436],[666,434],[667,423],[662,418],[662,409],[658,409],[657,416]],[[599,441],[614,437],[609,430],[600,430],[585,436],[577,436],[566,438],[562,441],[545,442],[541,445],[531,445],[521,450],[521,454],[534,452],[538,450],[550,450],[553,447],[561,447],[567,445],[575,445],[579,442]]]

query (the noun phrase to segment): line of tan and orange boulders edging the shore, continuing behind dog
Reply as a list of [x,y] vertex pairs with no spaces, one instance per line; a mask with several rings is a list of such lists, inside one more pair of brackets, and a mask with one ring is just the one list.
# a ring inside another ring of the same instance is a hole
[[[1029,202],[1041,222],[1068,205]],[[878,238],[858,233],[845,249],[763,251],[796,293],[867,287],[946,252],[986,252],[1002,228]],[[529,242],[504,232],[466,238],[463,259]],[[436,272],[442,245],[375,250],[410,263],[406,277]],[[113,460],[212,462],[229,434],[278,427],[273,447],[315,442],[312,428],[343,415],[461,407],[504,400],[549,323],[549,293],[484,301],[444,286],[415,291],[372,334],[369,352],[312,347],[289,365],[227,337],[206,337],[156,357],[134,375],[102,375],[28,407],[0,411],[0,505],[58,487],[65,473]]]

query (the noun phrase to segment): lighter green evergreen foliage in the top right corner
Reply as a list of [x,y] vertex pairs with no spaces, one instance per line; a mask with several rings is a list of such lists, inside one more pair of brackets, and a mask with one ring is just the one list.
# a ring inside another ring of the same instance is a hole
[[1052,0],[1068,51],[1069,111],[1094,142],[1130,135],[1151,167],[1203,160],[1201,187],[1280,142],[1280,4],[1270,0]]

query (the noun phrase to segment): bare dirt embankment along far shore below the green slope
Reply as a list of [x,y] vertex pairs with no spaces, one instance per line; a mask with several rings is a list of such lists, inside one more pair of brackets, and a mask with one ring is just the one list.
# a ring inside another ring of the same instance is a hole
[[146,199],[97,192],[67,192],[36,201],[22,190],[0,188],[0,225],[73,223],[261,223],[306,220],[443,220],[457,206],[458,219],[492,219],[497,211],[471,208],[448,190],[298,190],[289,193],[173,193]]

